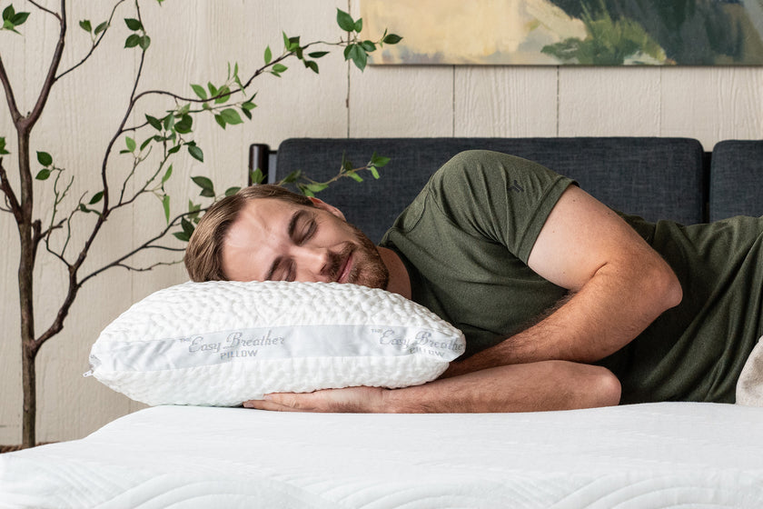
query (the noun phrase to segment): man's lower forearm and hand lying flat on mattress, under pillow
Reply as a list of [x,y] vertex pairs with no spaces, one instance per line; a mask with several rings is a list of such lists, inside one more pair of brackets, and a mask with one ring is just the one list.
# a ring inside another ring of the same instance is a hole
[[269,394],[248,408],[289,412],[535,412],[619,403],[618,379],[588,364],[546,361],[505,365],[402,389],[352,387]]

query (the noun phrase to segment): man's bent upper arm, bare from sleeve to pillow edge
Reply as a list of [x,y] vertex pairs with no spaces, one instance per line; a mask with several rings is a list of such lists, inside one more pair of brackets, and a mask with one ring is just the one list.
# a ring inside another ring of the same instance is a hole
[[576,186],[551,211],[528,264],[571,297],[520,334],[452,363],[446,376],[548,359],[598,361],[682,297],[669,265],[619,215]]

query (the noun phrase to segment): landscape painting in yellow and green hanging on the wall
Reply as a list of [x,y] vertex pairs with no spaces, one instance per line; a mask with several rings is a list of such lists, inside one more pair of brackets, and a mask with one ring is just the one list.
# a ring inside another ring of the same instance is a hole
[[763,0],[362,0],[371,64],[761,65]]

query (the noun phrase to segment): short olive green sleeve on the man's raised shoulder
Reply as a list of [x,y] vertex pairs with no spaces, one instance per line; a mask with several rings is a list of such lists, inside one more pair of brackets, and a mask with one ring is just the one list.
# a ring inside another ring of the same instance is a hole
[[465,233],[504,245],[527,264],[540,229],[571,184],[570,178],[527,159],[472,150],[443,165],[427,192]]

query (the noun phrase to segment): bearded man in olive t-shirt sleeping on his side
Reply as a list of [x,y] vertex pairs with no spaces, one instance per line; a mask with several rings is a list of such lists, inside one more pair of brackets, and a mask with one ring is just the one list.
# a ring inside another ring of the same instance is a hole
[[[652,225],[570,179],[486,151],[453,158],[379,247],[315,198],[268,186],[214,205],[196,281],[386,288],[461,328],[464,359],[397,390],[272,394],[272,410],[445,412],[733,401],[763,335],[763,218]],[[620,385],[622,384],[622,385]]]

